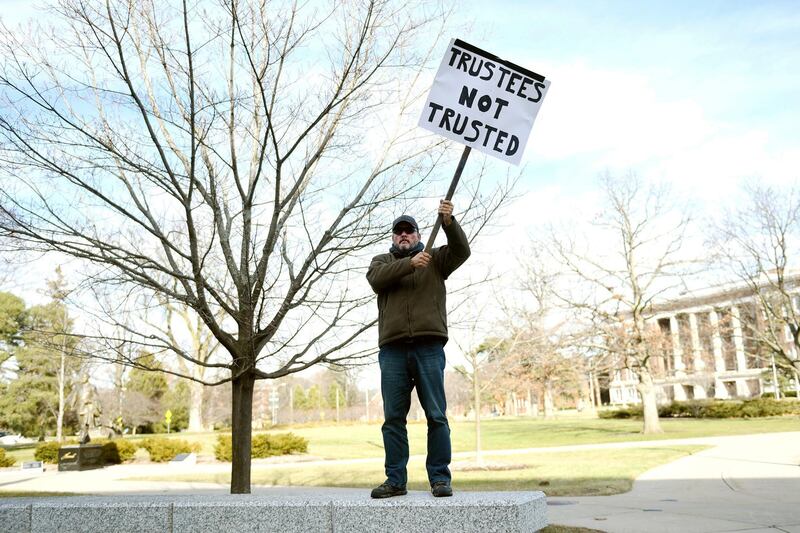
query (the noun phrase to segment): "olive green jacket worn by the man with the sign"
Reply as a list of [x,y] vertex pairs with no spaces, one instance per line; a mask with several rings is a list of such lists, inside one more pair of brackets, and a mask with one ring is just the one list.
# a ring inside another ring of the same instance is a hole
[[470,255],[469,242],[456,219],[442,225],[447,245],[431,251],[427,268],[415,269],[411,257],[392,253],[372,259],[367,281],[378,295],[378,345],[421,336],[447,339],[445,280]]

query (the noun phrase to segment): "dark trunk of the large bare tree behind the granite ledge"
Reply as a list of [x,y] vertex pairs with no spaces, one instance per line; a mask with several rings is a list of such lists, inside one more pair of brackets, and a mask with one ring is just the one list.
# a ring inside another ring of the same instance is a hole
[[245,372],[234,378],[231,401],[231,494],[250,494],[250,451],[253,437],[253,389],[255,377]]

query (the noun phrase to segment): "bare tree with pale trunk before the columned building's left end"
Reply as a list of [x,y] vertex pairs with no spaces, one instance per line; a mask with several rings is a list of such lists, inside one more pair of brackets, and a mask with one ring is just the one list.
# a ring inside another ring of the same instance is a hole
[[646,186],[633,174],[605,175],[601,186],[606,205],[592,221],[597,233],[590,244],[551,232],[549,249],[563,268],[556,294],[592,331],[593,348],[635,373],[644,433],[660,433],[652,364],[662,354],[647,321],[659,298],[674,296],[683,284],[690,219],[665,188]]

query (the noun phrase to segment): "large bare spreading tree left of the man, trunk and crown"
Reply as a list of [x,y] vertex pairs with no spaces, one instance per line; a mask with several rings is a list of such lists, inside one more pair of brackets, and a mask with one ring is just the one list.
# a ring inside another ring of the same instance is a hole
[[60,0],[57,27],[0,37],[0,236],[197,313],[227,362],[108,316],[228,371],[206,384],[232,384],[233,493],[255,380],[373,351],[365,257],[442,153],[404,120],[430,10],[319,6]]

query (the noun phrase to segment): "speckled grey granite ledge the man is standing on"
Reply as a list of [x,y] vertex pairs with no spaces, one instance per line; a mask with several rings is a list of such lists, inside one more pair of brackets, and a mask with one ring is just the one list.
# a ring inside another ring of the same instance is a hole
[[248,495],[71,496],[0,500],[0,532],[531,532],[541,492],[427,492],[372,500],[367,490],[272,489]]

